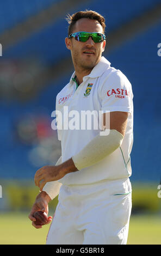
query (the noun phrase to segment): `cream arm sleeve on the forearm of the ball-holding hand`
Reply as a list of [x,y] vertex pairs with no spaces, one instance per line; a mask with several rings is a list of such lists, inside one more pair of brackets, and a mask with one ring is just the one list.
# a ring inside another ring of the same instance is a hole
[[[55,163],[55,166],[58,166],[61,164],[61,156],[58,159],[58,161]],[[59,190],[61,187],[61,183],[59,181],[49,181],[45,184],[45,186],[42,188],[42,191],[45,191],[48,196],[53,200],[56,196],[59,194]]]

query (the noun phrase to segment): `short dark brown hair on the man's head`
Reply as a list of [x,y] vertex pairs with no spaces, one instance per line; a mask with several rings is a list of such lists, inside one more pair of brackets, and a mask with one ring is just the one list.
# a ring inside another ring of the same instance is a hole
[[72,15],[67,14],[66,16],[67,16],[66,20],[69,23],[68,35],[72,33],[73,27],[75,26],[76,22],[82,18],[88,18],[90,20],[97,20],[98,22],[100,22],[103,28],[103,33],[106,28],[104,17],[101,14],[97,13],[96,11],[92,11],[92,10],[78,11],[75,14],[72,14]]

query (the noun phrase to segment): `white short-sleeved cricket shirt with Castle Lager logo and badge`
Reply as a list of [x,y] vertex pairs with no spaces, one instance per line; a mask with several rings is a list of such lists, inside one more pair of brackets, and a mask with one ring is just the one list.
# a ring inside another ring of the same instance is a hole
[[[58,93],[56,99],[56,110],[62,114],[65,125],[65,129],[59,129],[61,121],[58,117],[57,131],[58,139],[61,141],[62,162],[77,154],[100,132],[99,127],[96,129],[94,125],[89,127],[82,124],[81,129],[81,111],[128,112],[127,129],[120,148],[90,167],[66,174],[59,182],[64,185],[76,185],[128,178],[132,173],[130,154],[133,144],[131,83],[120,70],[111,67],[110,62],[104,57],[101,57],[89,75],[83,77],[83,82],[78,87],[75,77],[76,74],[73,72],[70,82]],[[95,118],[98,118],[96,114]],[[72,129],[67,129],[67,126]]]

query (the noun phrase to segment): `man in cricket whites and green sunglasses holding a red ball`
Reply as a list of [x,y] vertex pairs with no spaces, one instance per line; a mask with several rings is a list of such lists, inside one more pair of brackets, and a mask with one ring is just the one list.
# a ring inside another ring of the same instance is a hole
[[[102,57],[106,46],[104,18],[95,11],[80,11],[68,20],[65,44],[71,51],[75,72],[57,95],[56,109],[63,118],[65,107],[70,114],[79,113],[79,117],[82,111],[95,111],[95,120],[102,111],[102,126],[61,130],[58,117],[62,154],[56,166],[36,172],[35,185],[41,192],[29,218],[35,228],[41,228],[35,225],[33,213],[48,213],[48,202],[59,193],[47,244],[126,244],[132,207],[131,83]],[[51,220],[49,216],[48,223]]]

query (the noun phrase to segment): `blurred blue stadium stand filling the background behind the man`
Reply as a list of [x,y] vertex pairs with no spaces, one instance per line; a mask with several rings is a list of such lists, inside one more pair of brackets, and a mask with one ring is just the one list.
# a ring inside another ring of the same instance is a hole
[[33,179],[38,168],[57,161],[60,143],[57,133],[51,130],[51,113],[57,93],[73,71],[70,51],[64,43],[65,15],[91,9],[106,18],[108,37],[104,57],[125,73],[133,86],[131,180],[159,182],[160,1],[2,2],[1,178]]

